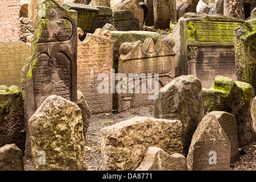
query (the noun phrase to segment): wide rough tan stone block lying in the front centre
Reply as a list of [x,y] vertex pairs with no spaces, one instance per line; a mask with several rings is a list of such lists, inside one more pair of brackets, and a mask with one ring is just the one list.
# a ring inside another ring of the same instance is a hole
[[167,154],[181,153],[181,122],[135,117],[101,129],[102,170],[133,171],[143,161],[148,147]]

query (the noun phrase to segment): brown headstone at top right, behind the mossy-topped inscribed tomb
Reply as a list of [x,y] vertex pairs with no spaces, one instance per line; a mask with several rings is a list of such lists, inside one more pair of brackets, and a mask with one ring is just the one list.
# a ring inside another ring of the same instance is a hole
[[245,19],[245,7],[243,1],[224,0],[224,16]]

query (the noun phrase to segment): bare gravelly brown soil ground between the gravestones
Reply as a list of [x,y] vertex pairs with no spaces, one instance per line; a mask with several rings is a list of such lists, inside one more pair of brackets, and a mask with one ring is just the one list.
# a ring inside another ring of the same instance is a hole
[[[127,119],[143,116],[154,117],[153,106],[132,108],[122,113],[93,114],[86,134],[86,159],[89,171],[101,171],[101,129]],[[256,171],[256,142],[241,148],[240,161],[230,164],[230,171]],[[24,168],[26,171],[34,171],[32,159],[24,156]]]

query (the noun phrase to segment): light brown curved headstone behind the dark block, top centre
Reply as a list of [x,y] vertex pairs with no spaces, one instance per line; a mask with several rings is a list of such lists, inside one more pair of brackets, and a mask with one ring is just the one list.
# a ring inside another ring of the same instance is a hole
[[125,0],[118,5],[117,10],[130,10],[133,15],[139,20],[139,28],[143,27],[143,9],[139,6],[138,0]]

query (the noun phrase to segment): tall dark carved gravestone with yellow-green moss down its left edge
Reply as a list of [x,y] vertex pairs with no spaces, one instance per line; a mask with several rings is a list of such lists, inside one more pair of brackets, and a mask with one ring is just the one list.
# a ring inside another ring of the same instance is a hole
[[[77,103],[76,18],[76,11],[65,10],[55,1],[38,4],[31,56],[22,69],[26,121],[48,96]],[[26,146],[29,141],[27,133]]]

